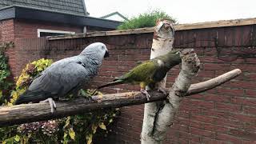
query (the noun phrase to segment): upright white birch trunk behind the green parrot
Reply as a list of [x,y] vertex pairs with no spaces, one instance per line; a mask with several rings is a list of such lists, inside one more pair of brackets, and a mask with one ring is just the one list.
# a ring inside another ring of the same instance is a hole
[[[172,50],[173,43],[174,27],[172,23],[166,20],[158,21],[154,30],[150,59],[166,54]],[[165,87],[166,78],[164,78],[158,86]],[[156,126],[155,120],[158,118],[158,112],[162,105],[164,105],[163,102],[150,102],[145,104],[142,125],[142,144],[158,143],[155,142],[156,139],[152,138],[152,134]]]

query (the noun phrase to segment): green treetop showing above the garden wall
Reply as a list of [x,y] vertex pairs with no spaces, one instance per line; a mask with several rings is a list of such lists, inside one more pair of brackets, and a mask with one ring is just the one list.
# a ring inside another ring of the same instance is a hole
[[154,10],[150,13],[139,14],[138,17],[130,18],[118,26],[118,30],[138,29],[155,26],[158,19],[166,19],[176,23],[177,21],[163,11]]

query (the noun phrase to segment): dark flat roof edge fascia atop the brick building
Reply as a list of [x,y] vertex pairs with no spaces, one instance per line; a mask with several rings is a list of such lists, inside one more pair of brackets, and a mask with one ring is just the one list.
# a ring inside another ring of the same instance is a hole
[[10,18],[59,22],[74,26],[98,26],[109,29],[116,29],[116,27],[121,24],[121,22],[108,19],[94,18],[80,14],[68,14],[52,10],[42,10],[40,8],[31,8],[28,6],[7,6],[2,8],[0,10],[0,21]]

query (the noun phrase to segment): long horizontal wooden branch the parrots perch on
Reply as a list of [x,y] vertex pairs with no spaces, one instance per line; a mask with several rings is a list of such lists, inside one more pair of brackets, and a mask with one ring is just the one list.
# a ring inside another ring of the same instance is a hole
[[[206,82],[200,82],[190,86],[186,95],[198,94],[206,90],[213,89],[224,82],[228,82],[241,74],[241,70],[232,70],[222,74],[217,78]],[[167,92],[167,94],[169,91]],[[160,101],[166,98],[166,95],[153,91],[150,101],[140,92],[128,92],[119,94],[104,94],[94,96],[94,102],[86,101],[84,98],[78,98],[70,102],[56,102],[57,110],[54,114],[50,113],[49,103],[23,104],[18,106],[4,106],[0,108],[0,126],[12,126],[26,122],[38,122],[53,118],[63,118],[68,115],[84,114],[92,110],[101,110],[105,108],[114,108],[122,106],[139,105],[146,102]]]

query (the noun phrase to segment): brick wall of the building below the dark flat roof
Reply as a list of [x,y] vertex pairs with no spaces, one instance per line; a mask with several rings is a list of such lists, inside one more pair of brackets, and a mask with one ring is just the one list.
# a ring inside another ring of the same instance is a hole
[[[38,29],[46,30],[66,30],[82,33],[82,27],[66,26],[58,23],[38,22],[24,19],[8,19],[0,21],[0,42],[17,41],[19,38],[37,38]],[[17,76],[16,69],[21,67],[16,58],[17,49],[6,50],[6,55],[9,58],[9,65],[13,76]]]

